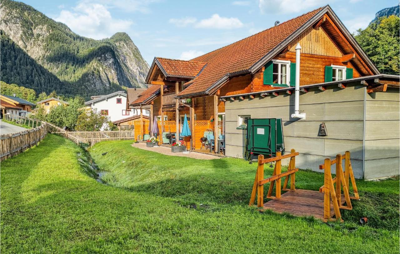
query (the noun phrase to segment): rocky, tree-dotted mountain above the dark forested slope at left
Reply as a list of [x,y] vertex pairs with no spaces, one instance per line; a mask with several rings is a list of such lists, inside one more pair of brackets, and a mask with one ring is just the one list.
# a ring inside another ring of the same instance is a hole
[[[39,84],[30,87],[36,92],[55,89],[89,96],[124,87],[145,87],[149,66],[128,34],[117,33],[104,40],[85,38],[31,6],[10,0],[1,2],[1,13],[2,33],[64,84],[54,87],[39,78],[35,82]],[[2,67],[16,64],[15,60],[1,61]],[[18,67],[24,68],[21,64]],[[24,85],[25,78],[20,79],[19,85]]]

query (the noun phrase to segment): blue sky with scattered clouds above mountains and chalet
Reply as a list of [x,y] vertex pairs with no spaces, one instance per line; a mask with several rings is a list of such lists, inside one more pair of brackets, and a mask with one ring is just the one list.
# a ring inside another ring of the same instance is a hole
[[350,32],[398,0],[22,0],[79,35],[126,32],[151,64],[154,56],[189,60],[329,4]]

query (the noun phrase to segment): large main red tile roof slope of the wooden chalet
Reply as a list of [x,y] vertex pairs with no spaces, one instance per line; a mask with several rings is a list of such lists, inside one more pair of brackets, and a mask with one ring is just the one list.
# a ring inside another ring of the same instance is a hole
[[249,69],[320,10],[322,8],[189,61],[204,62],[207,65],[178,96],[202,93],[226,74]]

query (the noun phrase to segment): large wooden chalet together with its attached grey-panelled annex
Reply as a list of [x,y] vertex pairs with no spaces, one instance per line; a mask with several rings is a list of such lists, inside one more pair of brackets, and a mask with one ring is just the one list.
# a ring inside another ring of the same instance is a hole
[[[305,118],[291,116],[296,74]],[[358,178],[398,174],[399,76],[379,73],[330,6],[190,61],[155,58],[146,82],[153,86],[133,105],[152,105],[177,128],[185,104],[196,121],[220,120],[211,124],[215,136],[225,134],[227,156],[243,156],[248,118],[282,118],[286,150],[300,152],[300,168],[318,170],[325,157],[349,150]],[[390,134],[382,133],[388,126]]]

